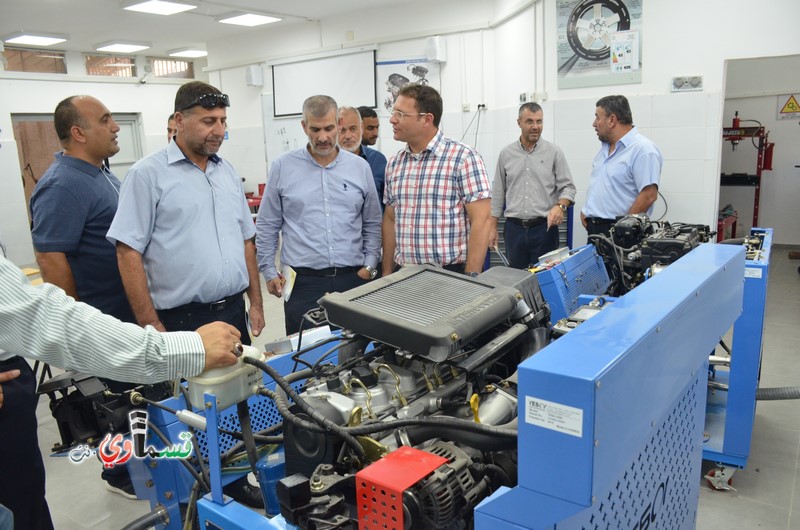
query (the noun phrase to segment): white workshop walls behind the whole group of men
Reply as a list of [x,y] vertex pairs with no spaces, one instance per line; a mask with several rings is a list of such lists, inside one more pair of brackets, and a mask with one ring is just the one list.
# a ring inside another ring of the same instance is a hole
[[[556,0],[409,1],[392,9],[372,8],[319,22],[266,26],[243,31],[239,38],[209,42],[206,74],[212,84],[231,95],[233,103],[228,113],[230,140],[222,154],[247,179],[246,189],[254,190],[265,178],[261,100],[263,94],[271,92],[271,78],[269,68],[265,68],[264,87],[248,87],[244,66],[364,44],[378,44],[378,60],[418,57],[424,51],[426,37],[442,35],[447,43],[447,62],[441,70],[443,129],[449,136],[461,138],[472,118],[461,112],[461,104],[469,102],[474,107],[485,103],[488,110],[481,116],[477,147],[491,173],[499,149],[518,134],[514,118],[520,92],[546,93],[544,137],[564,149],[579,188],[578,205],[582,205],[590,161],[598,149],[591,129],[594,103],[604,95],[621,93],[631,100],[635,123],[664,153],[661,190],[669,205],[666,218],[715,225],[720,156],[722,148],[728,148],[722,145],[720,130],[725,61],[796,54],[800,2],[774,0],[756,5],[744,0],[648,0],[643,4],[644,70],[642,83],[633,85],[558,89]],[[349,32],[353,40],[347,40]],[[670,93],[670,79],[687,74],[702,75],[704,91]],[[138,83],[25,82],[9,80],[8,75],[0,74],[4,95],[0,100],[3,199],[21,193],[18,162],[8,156],[16,151],[11,113],[49,113],[67,95],[90,93],[115,112],[141,113],[145,146],[150,151],[161,145],[162,121],[171,112],[176,89]],[[321,79],[319,91],[324,93],[324,87]],[[729,119],[724,121],[727,124]],[[390,154],[399,145],[391,139],[388,123],[381,129],[381,149]],[[465,141],[474,143],[474,133],[473,128]],[[789,142],[785,143],[788,150]],[[781,145],[776,147],[776,155],[781,149]],[[770,210],[774,215],[764,221],[774,220],[776,241],[800,244],[796,231],[789,232],[778,224],[794,216],[796,208],[784,200],[793,190],[784,190],[783,180],[776,179],[776,185],[773,193],[764,193],[762,212]],[[660,202],[656,212],[662,209]],[[5,214],[5,208],[3,211]],[[0,232],[7,240],[27,229],[27,218],[20,217],[11,213],[0,221]],[[575,230],[575,236],[575,244],[585,241],[581,228]],[[19,257],[25,245],[15,243],[17,261],[31,261],[24,259],[32,257],[30,251]]]

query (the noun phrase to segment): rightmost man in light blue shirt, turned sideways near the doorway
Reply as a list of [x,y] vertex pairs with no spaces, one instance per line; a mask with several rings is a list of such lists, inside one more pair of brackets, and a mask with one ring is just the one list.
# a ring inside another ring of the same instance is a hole
[[652,214],[664,164],[658,147],[634,127],[625,96],[601,98],[593,127],[602,145],[592,162],[592,179],[581,210],[589,235],[608,234],[623,215]]

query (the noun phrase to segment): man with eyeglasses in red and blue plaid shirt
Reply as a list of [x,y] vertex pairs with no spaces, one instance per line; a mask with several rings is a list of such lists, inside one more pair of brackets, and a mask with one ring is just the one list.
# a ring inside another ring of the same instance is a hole
[[491,228],[491,184],[471,147],[439,130],[442,98],[430,86],[400,89],[389,122],[406,142],[386,167],[383,274],[397,265],[436,264],[477,276]]

